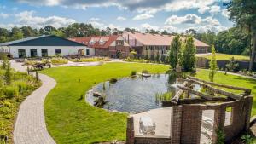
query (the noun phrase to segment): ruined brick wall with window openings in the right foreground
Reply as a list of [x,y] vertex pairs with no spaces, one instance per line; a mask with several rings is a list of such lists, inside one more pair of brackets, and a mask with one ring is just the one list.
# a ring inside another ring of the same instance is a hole
[[[198,144],[201,141],[201,121],[204,110],[214,110],[212,143],[217,141],[215,133],[223,129],[225,141],[229,142],[249,130],[250,116],[253,105],[253,96],[245,96],[240,101],[227,101],[214,104],[183,104],[172,107],[171,136],[170,138],[158,138],[147,136],[134,136],[133,118],[127,118],[127,143],[171,143],[171,144]],[[231,123],[225,126],[226,108],[232,107]]]

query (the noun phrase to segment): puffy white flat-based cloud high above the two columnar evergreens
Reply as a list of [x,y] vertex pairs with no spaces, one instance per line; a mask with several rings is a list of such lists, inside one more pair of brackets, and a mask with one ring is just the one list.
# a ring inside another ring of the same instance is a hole
[[167,18],[166,25],[172,24],[199,24],[201,22],[201,17],[197,16],[196,14],[186,14],[185,16],[177,16],[172,15],[171,17]]

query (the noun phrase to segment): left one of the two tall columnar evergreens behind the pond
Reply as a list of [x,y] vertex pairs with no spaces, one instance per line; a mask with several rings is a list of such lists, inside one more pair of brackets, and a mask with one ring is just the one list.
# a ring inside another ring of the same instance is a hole
[[177,64],[181,61],[181,49],[182,49],[182,41],[179,35],[172,39],[172,43],[170,46],[169,60],[170,65],[173,69],[176,68]]

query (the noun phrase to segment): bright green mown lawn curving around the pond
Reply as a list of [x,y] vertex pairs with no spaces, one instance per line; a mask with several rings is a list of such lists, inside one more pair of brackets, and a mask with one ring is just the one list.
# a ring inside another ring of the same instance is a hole
[[[44,102],[47,129],[57,143],[92,143],[97,141],[125,140],[126,114],[107,112],[91,107],[81,100],[93,85],[110,78],[129,76],[131,71],[166,72],[169,66],[108,63],[102,66],[58,67],[43,73],[55,78],[57,85]],[[207,70],[199,70],[198,78],[208,78]],[[79,82],[80,79],[80,82]],[[256,81],[218,73],[216,82],[253,89],[256,95]],[[256,103],[253,102],[253,115]]]

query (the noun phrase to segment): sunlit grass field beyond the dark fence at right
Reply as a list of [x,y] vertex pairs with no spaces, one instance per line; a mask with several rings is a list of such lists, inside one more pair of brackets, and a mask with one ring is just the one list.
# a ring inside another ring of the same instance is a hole
[[[209,60],[212,59],[212,55],[199,55],[198,57],[204,57]],[[217,60],[230,60],[232,57],[234,57],[235,60],[246,60],[246,61],[250,60],[250,57],[246,55],[229,55],[229,54],[216,53]]]

